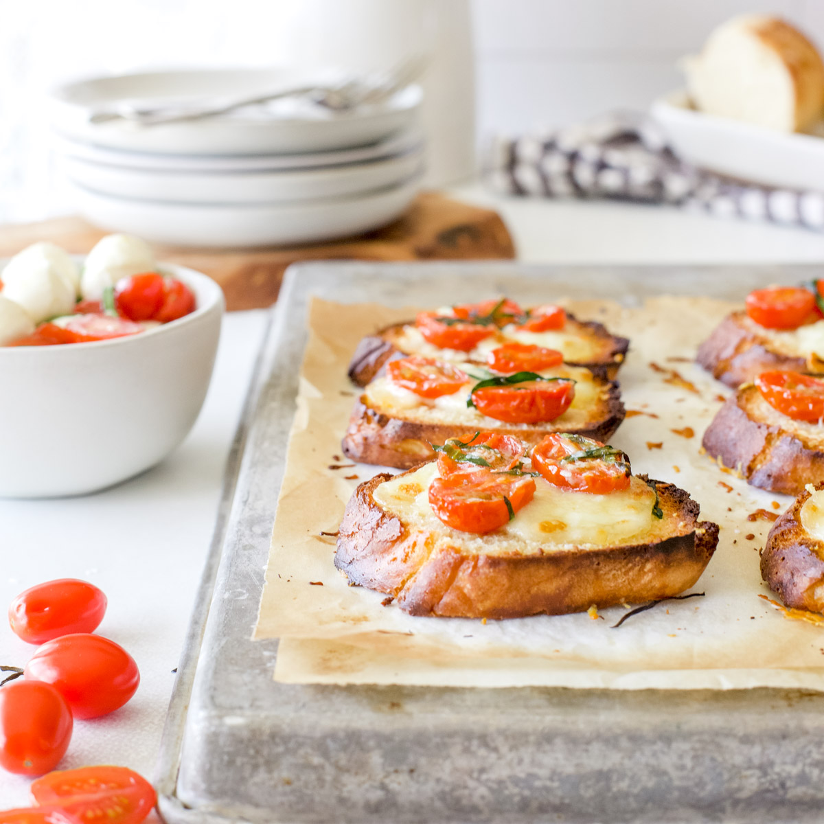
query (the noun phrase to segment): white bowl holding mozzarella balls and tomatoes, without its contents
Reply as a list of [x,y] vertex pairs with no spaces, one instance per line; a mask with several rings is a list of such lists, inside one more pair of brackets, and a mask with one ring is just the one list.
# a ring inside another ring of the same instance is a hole
[[223,295],[204,274],[162,270],[194,291],[190,315],[133,337],[0,347],[0,496],[105,489],[185,438],[212,376]]

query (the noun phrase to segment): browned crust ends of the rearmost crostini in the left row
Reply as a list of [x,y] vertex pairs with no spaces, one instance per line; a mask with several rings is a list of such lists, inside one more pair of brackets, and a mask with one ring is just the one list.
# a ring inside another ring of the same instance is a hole
[[[567,315],[567,323],[578,327],[581,335],[597,340],[601,349],[601,356],[591,363],[569,361],[569,366],[583,366],[604,380],[615,380],[618,368],[630,347],[628,338],[610,335],[606,326],[597,321],[578,321],[574,315]],[[374,335],[367,335],[358,344],[352,361],[349,363],[349,378],[358,386],[366,386],[389,359],[391,354],[398,352],[394,344],[397,335],[405,325],[414,324],[414,321],[404,321],[378,330]],[[403,354],[414,354],[404,352]]]

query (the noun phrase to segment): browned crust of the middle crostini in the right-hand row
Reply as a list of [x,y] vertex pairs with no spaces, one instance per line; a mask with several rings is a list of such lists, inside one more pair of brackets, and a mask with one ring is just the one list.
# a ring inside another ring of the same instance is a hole
[[[755,386],[739,387],[707,427],[702,444],[723,466],[760,489],[797,495],[824,475],[824,452],[786,430],[751,419],[741,401]],[[788,419],[789,420],[789,419]]]

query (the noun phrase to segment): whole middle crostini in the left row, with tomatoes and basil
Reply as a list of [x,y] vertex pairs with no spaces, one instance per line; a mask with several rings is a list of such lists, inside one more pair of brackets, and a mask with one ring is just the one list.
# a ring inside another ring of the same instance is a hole
[[485,365],[395,353],[358,398],[342,448],[353,461],[408,469],[475,429],[532,445],[549,432],[606,440],[624,416],[616,383],[535,344],[503,344]]

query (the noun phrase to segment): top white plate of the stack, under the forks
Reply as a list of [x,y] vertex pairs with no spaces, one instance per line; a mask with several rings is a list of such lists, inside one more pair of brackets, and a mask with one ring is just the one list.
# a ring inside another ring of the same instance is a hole
[[96,77],[68,83],[52,93],[54,128],[96,146],[163,154],[290,154],[377,143],[410,129],[422,91],[406,87],[382,105],[350,112],[287,100],[248,106],[221,117],[140,126],[123,120],[90,124],[97,106],[113,101],[171,102],[255,94],[329,80],[329,73],[307,77],[285,69],[212,69]]

